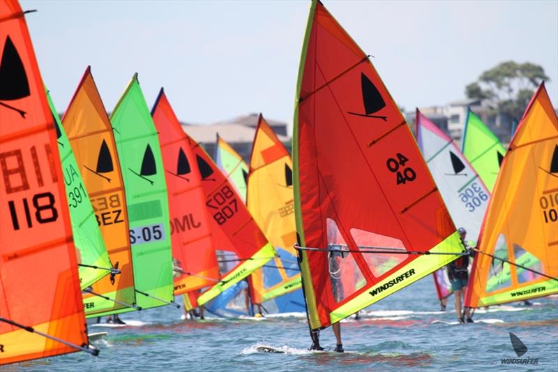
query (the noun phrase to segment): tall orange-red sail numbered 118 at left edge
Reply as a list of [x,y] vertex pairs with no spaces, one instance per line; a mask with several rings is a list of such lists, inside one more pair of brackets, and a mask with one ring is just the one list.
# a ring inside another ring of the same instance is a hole
[[88,340],[54,121],[17,1],[0,1],[0,58],[0,364],[8,364],[78,351],[52,338]]

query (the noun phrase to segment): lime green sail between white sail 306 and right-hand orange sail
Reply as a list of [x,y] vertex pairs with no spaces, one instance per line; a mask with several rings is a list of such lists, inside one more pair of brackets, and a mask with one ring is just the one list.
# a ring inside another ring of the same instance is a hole
[[470,108],[467,109],[461,150],[492,193],[506,149]]

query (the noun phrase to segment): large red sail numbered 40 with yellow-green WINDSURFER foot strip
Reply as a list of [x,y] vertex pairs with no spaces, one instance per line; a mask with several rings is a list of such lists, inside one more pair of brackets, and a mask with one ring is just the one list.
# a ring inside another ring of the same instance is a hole
[[312,333],[462,252],[398,106],[368,56],[319,1],[312,1],[303,43],[293,167]]

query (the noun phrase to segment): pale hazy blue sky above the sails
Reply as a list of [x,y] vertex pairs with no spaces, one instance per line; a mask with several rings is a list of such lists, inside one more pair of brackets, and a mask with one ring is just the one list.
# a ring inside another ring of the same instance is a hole
[[[87,66],[112,111],[133,74],[181,121],[292,123],[310,1],[23,0],[43,80],[66,110]],[[444,105],[502,61],[543,66],[558,106],[558,0],[327,1],[400,107]]]

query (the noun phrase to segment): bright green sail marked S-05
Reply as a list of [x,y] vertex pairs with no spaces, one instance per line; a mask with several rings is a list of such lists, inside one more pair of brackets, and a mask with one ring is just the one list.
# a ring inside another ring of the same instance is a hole
[[137,306],[163,306],[174,302],[167,183],[158,133],[137,74],[110,121],[126,190]]

